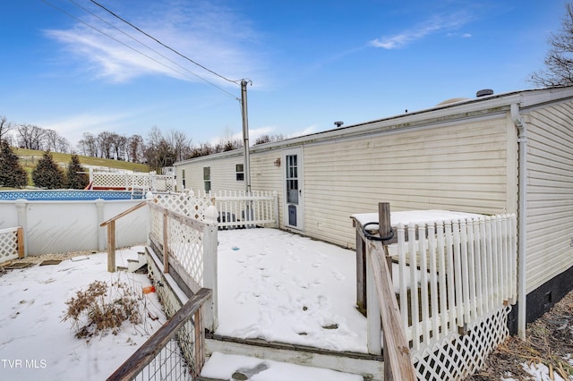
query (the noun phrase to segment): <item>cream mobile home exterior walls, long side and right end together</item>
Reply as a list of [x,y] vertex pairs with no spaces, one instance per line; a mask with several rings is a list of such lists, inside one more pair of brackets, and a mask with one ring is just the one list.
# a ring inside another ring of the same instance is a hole
[[[524,163],[512,105],[527,126],[525,179],[518,179]],[[304,172],[299,233],[354,248],[349,216],[375,211],[380,201],[396,211],[517,213],[526,219],[526,292],[545,298],[530,304],[547,309],[573,288],[573,87],[460,101],[252,147],[252,189],[278,190],[279,205],[285,163],[273,163],[293,148],[300,149]],[[242,153],[202,157],[178,163],[177,172],[205,163],[218,171],[232,155],[242,159]],[[523,211],[519,182],[527,194]],[[213,182],[213,189],[228,186]],[[280,227],[287,228],[281,213]]]

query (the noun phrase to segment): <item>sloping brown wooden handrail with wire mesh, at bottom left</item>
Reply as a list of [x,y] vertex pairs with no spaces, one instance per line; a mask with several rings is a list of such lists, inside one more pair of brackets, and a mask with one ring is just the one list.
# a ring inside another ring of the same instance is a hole
[[205,362],[201,306],[210,295],[208,289],[193,295],[107,381],[197,379]]

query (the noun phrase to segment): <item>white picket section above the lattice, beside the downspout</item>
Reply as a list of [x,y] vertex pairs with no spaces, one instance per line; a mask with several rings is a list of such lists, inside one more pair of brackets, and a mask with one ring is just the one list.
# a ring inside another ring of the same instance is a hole
[[414,353],[517,300],[515,215],[398,224],[396,233],[393,277]]

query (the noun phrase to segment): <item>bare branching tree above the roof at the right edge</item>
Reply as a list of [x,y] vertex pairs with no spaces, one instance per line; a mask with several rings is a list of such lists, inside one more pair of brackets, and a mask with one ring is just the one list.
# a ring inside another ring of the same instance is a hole
[[567,86],[573,84],[573,4],[565,4],[561,29],[548,39],[551,46],[545,55],[545,69],[534,72],[530,81],[537,86]]

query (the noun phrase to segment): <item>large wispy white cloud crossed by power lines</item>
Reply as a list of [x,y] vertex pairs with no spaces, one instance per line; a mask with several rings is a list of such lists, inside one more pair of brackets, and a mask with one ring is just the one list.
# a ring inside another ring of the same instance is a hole
[[[136,6],[123,9],[122,5],[114,4],[118,10],[112,11],[224,77],[245,78],[259,66],[256,55],[243,48],[245,41],[254,38],[254,33],[246,22],[225,8],[208,2],[139,1]],[[93,11],[108,23],[90,15],[82,19],[85,23],[78,22],[71,29],[46,30],[45,33],[72,53],[77,58],[75,63],[93,71],[96,78],[124,82],[142,75],[159,74],[193,81],[200,80],[197,76],[201,76],[218,85],[229,84],[109,13],[101,9]]]

